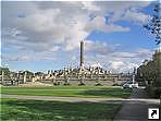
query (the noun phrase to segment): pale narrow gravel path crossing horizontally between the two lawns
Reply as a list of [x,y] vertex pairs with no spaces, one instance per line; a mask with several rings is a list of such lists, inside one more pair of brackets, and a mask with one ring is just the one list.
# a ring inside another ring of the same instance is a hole
[[141,98],[84,98],[84,97],[54,97],[54,96],[27,96],[27,95],[1,95],[2,98],[17,98],[17,99],[35,99],[35,100],[57,100],[57,101],[91,101],[91,102],[104,102],[104,104],[153,104],[159,105],[159,99],[141,99]]

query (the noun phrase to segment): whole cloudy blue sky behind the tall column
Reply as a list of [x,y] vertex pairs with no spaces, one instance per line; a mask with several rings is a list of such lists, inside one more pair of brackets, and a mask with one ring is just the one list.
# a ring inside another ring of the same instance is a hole
[[14,71],[77,66],[85,40],[86,65],[127,72],[156,48],[143,28],[151,14],[150,1],[2,2],[1,62]]

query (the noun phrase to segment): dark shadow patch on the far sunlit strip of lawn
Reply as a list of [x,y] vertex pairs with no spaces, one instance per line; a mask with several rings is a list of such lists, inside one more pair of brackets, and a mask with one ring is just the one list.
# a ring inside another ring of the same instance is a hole
[[84,96],[98,96],[98,97],[111,97],[111,98],[127,98],[131,95],[131,89],[122,88],[101,88],[101,89],[89,89],[81,92],[79,95]]

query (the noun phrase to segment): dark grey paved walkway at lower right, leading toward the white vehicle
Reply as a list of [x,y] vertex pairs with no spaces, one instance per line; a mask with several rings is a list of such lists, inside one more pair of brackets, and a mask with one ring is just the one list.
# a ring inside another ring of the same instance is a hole
[[[149,99],[147,93],[144,88],[135,88],[133,90],[131,99],[136,99],[136,101],[147,100],[145,102],[134,102],[128,104],[125,102],[122,109],[115,117],[116,121],[149,121],[148,120],[148,108],[159,108],[160,101],[157,102],[159,99]],[[152,101],[150,101],[152,100]],[[154,120],[152,120],[154,121]],[[158,120],[159,121],[159,120]]]

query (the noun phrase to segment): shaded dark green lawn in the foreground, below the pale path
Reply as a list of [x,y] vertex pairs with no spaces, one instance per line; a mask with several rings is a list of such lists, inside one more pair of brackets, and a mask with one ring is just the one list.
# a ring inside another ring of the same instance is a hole
[[111,121],[121,105],[2,98],[1,121]]

